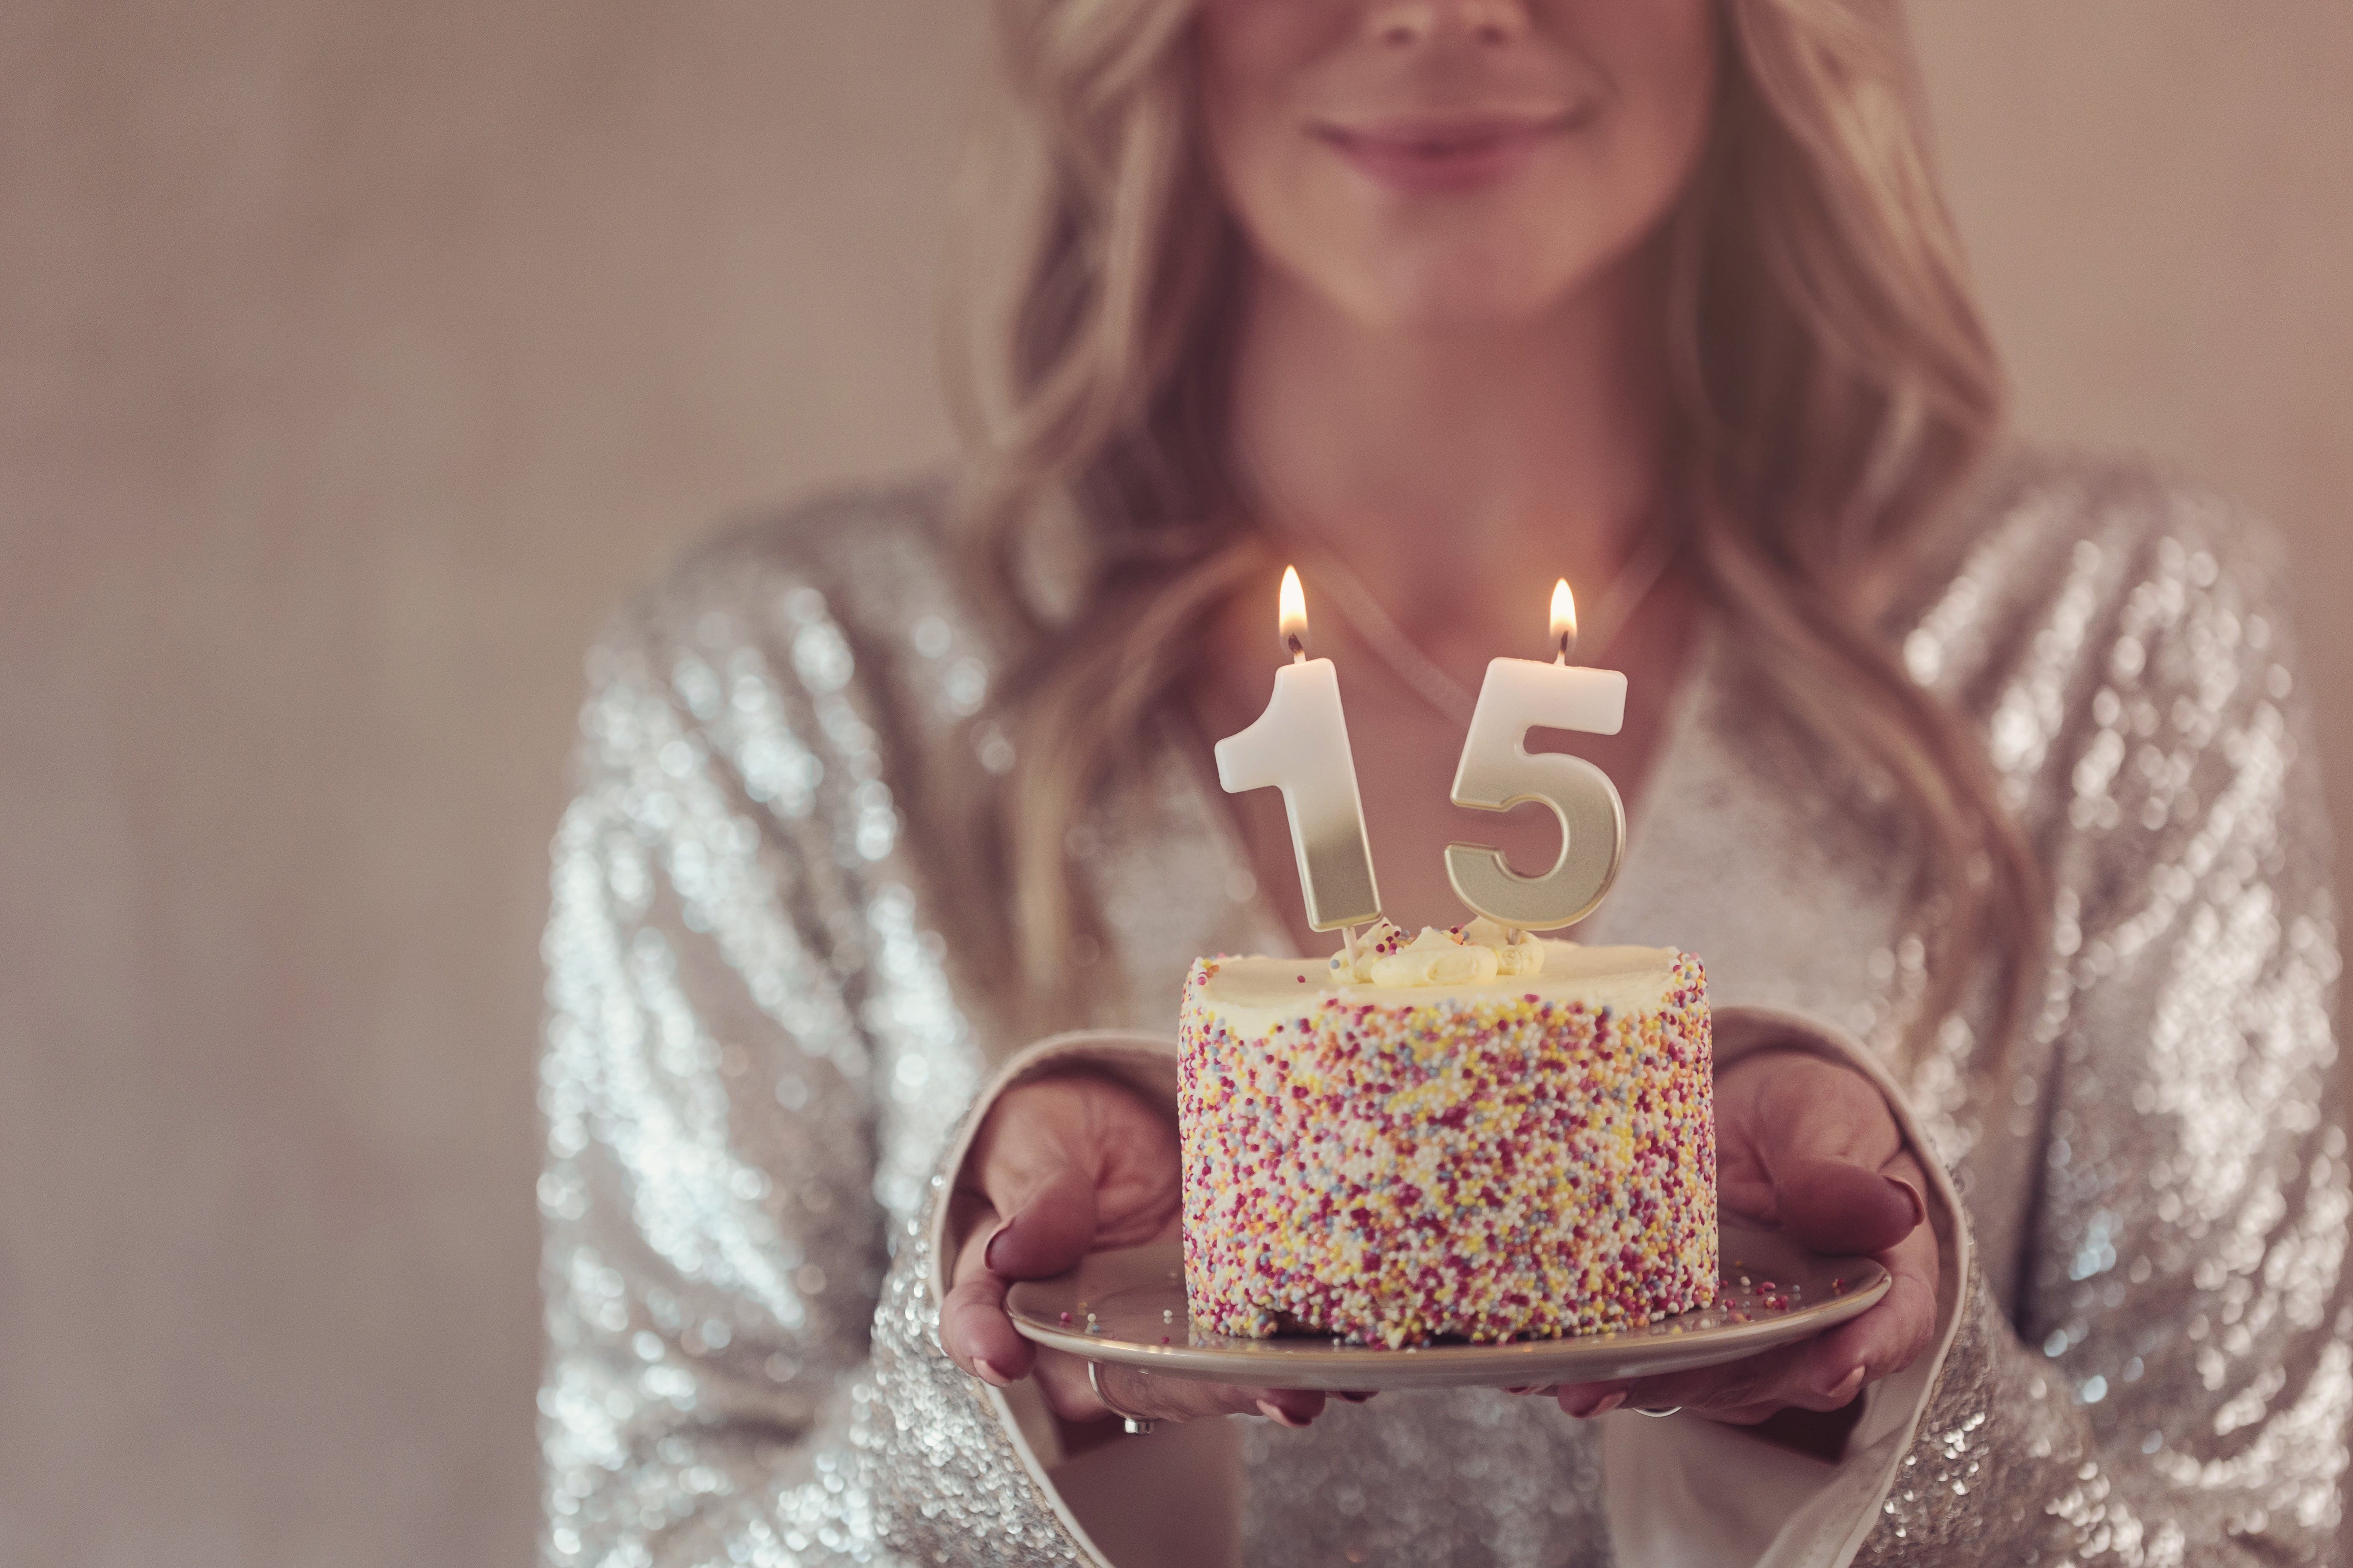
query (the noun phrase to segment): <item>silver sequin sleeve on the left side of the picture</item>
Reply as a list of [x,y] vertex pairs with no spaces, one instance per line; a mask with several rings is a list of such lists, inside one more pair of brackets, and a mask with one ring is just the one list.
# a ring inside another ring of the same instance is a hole
[[551,1566],[899,1561],[894,1519],[1075,1556],[932,1338],[920,1215],[981,1056],[887,780],[986,661],[904,512],[706,550],[591,656],[546,929]]

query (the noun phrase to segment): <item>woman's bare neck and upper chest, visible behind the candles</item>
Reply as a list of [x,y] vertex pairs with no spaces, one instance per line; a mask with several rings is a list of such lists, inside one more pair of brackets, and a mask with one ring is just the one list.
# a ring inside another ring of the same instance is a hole
[[[1367,331],[1282,280],[1257,289],[1235,378],[1238,477],[1257,484],[1278,536],[1306,534],[1344,557],[1412,651],[1464,691],[1499,654],[1548,654],[1553,578],[1591,604],[1633,529],[1657,515],[1666,397],[1659,348],[1642,334],[1661,317],[1635,277],[1628,268],[1544,322],[1417,334]],[[1499,816],[1449,804],[1461,717],[1400,677],[1386,630],[1318,599],[1313,552],[1299,567],[1313,649],[1344,670],[1384,907],[1407,926],[1464,919],[1449,842],[1497,844],[1537,870],[1560,853],[1560,830],[1537,806]],[[1202,736],[1231,736],[1266,705],[1266,590],[1238,595],[1212,630],[1209,679],[1188,693]],[[1544,731],[1541,748],[1595,762],[1638,804],[1694,614],[1671,571],[1602,651],[1628,677],[1624,729]],[[1282,802],[1254,790],[1233,809],[1292,940],[1327,950],[1306,929]]]

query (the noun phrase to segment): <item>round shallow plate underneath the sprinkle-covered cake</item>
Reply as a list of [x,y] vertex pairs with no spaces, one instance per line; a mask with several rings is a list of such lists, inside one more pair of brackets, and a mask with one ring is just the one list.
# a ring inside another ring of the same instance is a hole
[[1186,1316],[1184,1255],[1174,1241],[1094,1253],[1071,1274],[1024,1279],[1007,1291],[1005,1309],[1040,1345],[1165,1378],[1271,1389],[1433,1389],[1602,1382],[1739,1361],[1821,1333],[1887,1295],[1887,1269],[1868,1258],[1824,1258],[1729,1215],[1720,1229],[1725,1269],[1713,1307],[1565,1340],[1386,1349],[1322,1335],[1209,1333]]

